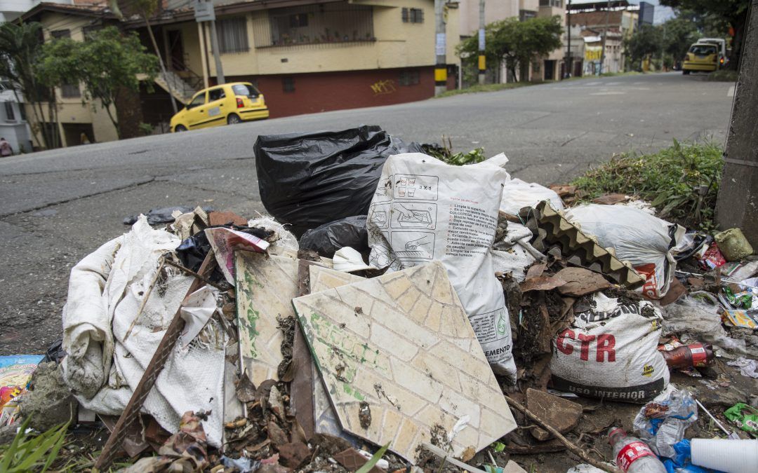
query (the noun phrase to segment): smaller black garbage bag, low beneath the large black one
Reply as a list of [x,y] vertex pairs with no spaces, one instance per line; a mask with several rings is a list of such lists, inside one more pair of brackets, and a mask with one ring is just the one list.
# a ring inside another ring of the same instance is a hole
[[368,252],[366,216],[349,216],[346,219],[324,223],[308,230],[300,238],[300,248],[317,251],[322,257],[333,257],[341,247],[352,247],[359,253]]

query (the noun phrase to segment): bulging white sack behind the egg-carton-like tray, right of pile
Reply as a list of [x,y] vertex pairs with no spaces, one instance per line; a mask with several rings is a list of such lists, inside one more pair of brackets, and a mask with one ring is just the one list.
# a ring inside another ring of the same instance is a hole
[[623,205],[581,205],[566,210],[565,217],[594,235],[600,246],[612,247],[619,260],[631,263],[645,278],[641,291],[647,297],[659,299],[669,291],[676,271],[672,250],[684,227]]

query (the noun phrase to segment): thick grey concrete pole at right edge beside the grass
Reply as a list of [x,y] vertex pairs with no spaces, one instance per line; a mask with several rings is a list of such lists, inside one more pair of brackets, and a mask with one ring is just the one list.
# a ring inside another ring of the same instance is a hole
[[758,0],[750,2],[740,58],[731,123],[724,153],[724,174],[716,202],[721,229],[738,227],[758,249]]

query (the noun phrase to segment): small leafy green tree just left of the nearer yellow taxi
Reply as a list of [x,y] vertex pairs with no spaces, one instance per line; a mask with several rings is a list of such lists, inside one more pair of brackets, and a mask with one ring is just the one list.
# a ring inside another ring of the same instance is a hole
[[108,26],[83,42],[57,40],[45,45],[40,70],[49,80],[83,82],[84,98],[97,98],[121,138],[121,129],[111,106],[121,88],[139,91],[138,74],[149,80],[158,71],[158,58],[146,53],[136,33],[122,34]]

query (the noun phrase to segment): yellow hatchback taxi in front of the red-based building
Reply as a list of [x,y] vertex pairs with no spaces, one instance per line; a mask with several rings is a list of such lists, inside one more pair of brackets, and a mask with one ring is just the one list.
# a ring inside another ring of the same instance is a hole
[[263,94],[249,82],[230,82],[202,89],[171,117],[172,132],[210,126],[233,125],[268,118]]

